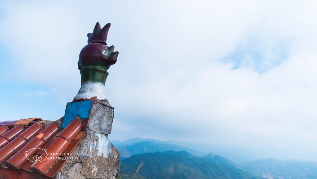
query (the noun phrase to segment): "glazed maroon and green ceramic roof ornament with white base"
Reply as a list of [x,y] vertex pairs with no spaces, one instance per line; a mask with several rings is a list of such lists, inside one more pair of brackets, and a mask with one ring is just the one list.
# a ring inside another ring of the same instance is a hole
[[88,45],[81,49],[78,60],[78,69],[81,73],[81,88],[74,100],[91,99],[107,100],[105,83],[107,70],[117,62],[119,52],[113,52],[114,46],[107,46],[107,35],[110,23],[102,29],[99,22],[93,33],[88,33]]

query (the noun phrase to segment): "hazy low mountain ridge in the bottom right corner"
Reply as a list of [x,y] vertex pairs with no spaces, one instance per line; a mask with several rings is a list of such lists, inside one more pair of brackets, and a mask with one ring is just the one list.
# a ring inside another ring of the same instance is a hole
[[239,163],[242,169],[271,179],[316,179],[317,162],[281,161],[275,159]]

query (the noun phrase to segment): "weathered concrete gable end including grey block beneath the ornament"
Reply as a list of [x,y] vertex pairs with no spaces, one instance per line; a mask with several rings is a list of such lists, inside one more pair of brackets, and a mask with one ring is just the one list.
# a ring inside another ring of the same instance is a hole
[[84,127],[86,135],[73,152],[78,155],[68,159],[57,179],[115,179],[119,176],[120,154],[108,140],[113,114],[114,109],[107,100],[94,100]]

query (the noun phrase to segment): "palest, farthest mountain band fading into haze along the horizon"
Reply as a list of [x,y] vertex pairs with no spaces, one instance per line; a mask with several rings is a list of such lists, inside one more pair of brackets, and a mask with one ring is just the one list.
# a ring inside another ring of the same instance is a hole
[[156,144],[171,144],[179,147],[188,147],[201,151],[205,154],[220,155],[236,163],[252,162],[259,159],[276,158],[280,160],[312,159],[311,162],[317,162],[317,153],[313,150],[299,152],[298,148],[281,148],[272,146],[262,146],[258,148],[230,147],[219,143],[202,143],[202,142],[178,142],[178,141],[158,141],[154,139],[133,138],[126,141],[113,141],[114,146],[133,145],[141,141],[150,141]]

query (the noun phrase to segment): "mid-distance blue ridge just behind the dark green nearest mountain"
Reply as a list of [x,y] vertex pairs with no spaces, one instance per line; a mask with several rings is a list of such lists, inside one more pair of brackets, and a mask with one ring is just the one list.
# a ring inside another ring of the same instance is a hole
[[171,144],[155,144],[150,141],[141,141],[139,143],[134,143],[133,145],[130,145],[130,146],[120,146],[120,147],[117,147],[117,149],[120,153],[121,159],[129,158],[130,156],[137,155],[137,154],[165,152],[169,150],[187,151],[196,156],[205,155],[201,151],[190,149],[188,147],[179,147],[179,146],[171,145]]

